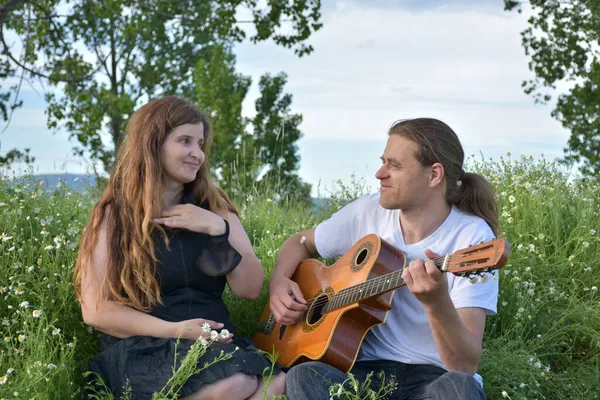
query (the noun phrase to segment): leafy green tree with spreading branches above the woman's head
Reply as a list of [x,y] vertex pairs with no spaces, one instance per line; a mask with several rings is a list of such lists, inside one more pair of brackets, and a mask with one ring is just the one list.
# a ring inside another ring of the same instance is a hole
[[[66,128],[109,170],[124,125],[141,102],[190,97],[193,71],[207,47],[273,40],[302,56],[321,27],[320,0],[9,0],[0,8],[0,44],[12,64],[62,89],[48,93],[48,126]],[[238,21],[245,10],[252,20]],[[242,24],[256,31],[249,35]],[[286,26],[283,26],[287,24]],[[23,38],[12,54],[4,30]],[[108,131],[110,143],[102,134]]]

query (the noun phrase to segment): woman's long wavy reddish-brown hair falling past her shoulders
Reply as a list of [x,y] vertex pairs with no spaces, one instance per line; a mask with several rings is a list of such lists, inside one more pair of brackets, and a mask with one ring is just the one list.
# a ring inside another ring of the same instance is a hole
[[[99,298],[113,300],[143,312],[161,302],[161,291],[155,276],[153,232],[165,231],[153,219],[160,216],[163,198],[163,166],[161,149],[167,135],[184,124],[202,124],[203,150],[208,160],[212,133],[208,118],[189,102],[178,97],[152,100],[130,118],[113,172],[100,200],[94,206],[85,227],[73,274],[73,287],[81,300],[81,283],[92,268],[92,252],[106,206],[108,265],[100,284]],[[205,161],[196,179],[186,185],[195,193],[196,203],[206,204],[213,212],[237,210],[212,180]]]

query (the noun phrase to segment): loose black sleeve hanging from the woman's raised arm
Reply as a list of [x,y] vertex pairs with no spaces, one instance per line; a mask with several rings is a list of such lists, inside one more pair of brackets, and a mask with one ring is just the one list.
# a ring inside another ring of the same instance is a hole
[[242,261],[242,256],[229,243],[229,222],[225,220],[225,233],[208,236],[207,244],[196,259],[196,266],[209,276],[223,276],[233,271]]

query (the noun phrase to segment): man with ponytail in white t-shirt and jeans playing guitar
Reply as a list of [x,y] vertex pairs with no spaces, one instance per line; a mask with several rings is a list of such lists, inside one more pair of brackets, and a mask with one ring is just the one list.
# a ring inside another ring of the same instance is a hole
[[[378,194],[359,198],[283,244],[270,280],[271,310],[278,322],[295,323],[306,310],[290,280],[296,266],[319,255],[339,257],[376,233],[405,252],[410,264],[386,323],[366,335],[351,372],[359,379],[370,371],[394,375],[396,399],[485,399],[476,371],[486,315],[496,312],[498,281],[472,284],[429,260],[494,238],[494,192],[485,178],[464,172],[458,137],[436,119],[396,122],[381,160]],[[291,400],[328,399],[328,386],[346,378],[329,365],[303,363],[288,372],[286,393]]]

